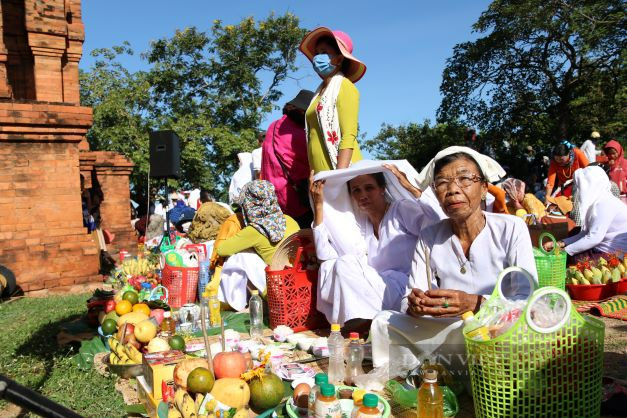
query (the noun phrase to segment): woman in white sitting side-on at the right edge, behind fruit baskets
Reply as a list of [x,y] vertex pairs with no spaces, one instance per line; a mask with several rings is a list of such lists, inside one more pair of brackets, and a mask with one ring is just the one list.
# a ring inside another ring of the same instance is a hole
[[[578,258],[627,252],[627,205],[612,194],[605,171],[588,166],[575,171],[574,180],[581,232],[559,241],[560,248]],[[544,248],[552,250],[553,242]]]

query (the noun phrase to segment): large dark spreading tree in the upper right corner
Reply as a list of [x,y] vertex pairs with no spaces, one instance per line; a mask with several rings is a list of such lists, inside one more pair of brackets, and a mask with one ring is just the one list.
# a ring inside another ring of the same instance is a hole
[[439,121],[512,143],[625,135],[623,1],[495,0],[473,29],[447,61]]

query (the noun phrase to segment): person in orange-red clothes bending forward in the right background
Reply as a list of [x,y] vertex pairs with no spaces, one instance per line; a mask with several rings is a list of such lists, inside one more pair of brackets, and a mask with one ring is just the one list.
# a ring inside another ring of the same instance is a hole
[[573,174],[589,164],[586,155],[568,141],[562,141],[553,147],[553,159],[549,165],[549,174],[546,179],[546,196],[551,196],[553,189],[560,188],[560,194],[572,195],[570,187]]

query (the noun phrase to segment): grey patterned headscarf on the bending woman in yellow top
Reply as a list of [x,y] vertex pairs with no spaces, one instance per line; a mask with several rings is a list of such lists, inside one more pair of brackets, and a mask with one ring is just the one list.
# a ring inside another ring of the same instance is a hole
[[246,184],[240,204],[247,225],[268,237],[273,244],[283,239],[287,226],[272,183],[255,180]]

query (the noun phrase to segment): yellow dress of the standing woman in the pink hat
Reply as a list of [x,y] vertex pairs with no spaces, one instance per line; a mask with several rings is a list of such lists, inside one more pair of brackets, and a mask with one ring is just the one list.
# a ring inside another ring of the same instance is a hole
[[[332,170],[331,160],[324,144],[325,136],[320,130],[318,123],[318,115],[316,108],[320,102],[320,96],[309,105],[305,118],[307,119],[308,138],[307,138],[307,155],[309,158],[309,166],[315,173],[324,170]],[[340,141],[340,150],[351,148],[353,156],[351,162],[357,162],[362,159],[359,143],[357,142],[357,121],[359,115],[359,91],[355,85],[347,78],[342,80],[340,92],[337,96],[337,114],[339,117],[340,132],[342,139]]]

